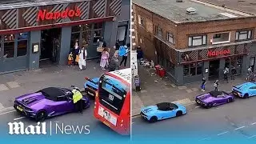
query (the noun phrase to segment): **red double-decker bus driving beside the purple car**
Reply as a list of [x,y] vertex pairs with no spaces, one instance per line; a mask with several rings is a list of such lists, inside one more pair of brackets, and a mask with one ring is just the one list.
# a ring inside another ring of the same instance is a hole
[[102,74],[94,117],[118,134],[130,135],[130,68]]

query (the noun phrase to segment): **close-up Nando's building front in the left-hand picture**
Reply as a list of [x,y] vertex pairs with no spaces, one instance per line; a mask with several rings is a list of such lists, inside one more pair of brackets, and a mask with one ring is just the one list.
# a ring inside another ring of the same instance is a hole
[[0,4],[0,73],[65,65],[74,43],[97,58],[97,40],[108,47],[130,42],[130,0],[27,1]]

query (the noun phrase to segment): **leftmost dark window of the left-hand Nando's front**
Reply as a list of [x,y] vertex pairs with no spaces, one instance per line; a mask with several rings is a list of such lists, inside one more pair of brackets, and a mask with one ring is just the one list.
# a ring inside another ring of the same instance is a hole
[[4,57],[14,58],[14,34],[4,36]]

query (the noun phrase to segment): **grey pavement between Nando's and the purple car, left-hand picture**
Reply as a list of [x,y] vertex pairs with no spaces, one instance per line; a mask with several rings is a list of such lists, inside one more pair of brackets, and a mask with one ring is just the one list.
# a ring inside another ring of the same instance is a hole
[[[127,63],[130,63],[129,59]],[[69,88],[74,85],[83,89],[85,77],[100,77],[108,71],[101,70],[97,60],[87,60],[86,70],[78,70],[78,66],[50,66],[39,70],[0,74],[0,109],[13,106],[14,98],[19,95],[49,86]]]

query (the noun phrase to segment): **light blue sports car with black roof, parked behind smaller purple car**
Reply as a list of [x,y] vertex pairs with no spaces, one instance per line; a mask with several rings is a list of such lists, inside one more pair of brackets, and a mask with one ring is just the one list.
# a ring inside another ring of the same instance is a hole
[[149,122],[157,122],[166,118],[174,118],[186,114],[186,107],[178,103],[162,102],[155,106],[146,106],[141,110],[142,118]]

